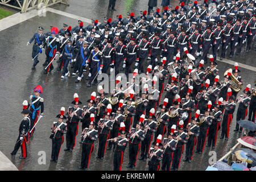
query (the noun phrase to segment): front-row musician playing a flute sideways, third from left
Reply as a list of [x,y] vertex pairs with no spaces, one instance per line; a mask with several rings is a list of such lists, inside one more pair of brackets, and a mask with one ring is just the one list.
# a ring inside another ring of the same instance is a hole
[[[122,123],[120,124],[122,126]],[[115,144],[115,152],[114,152],[114,171],[121,171],[122,163],[123,163],[123,155],[125,153],[125,148],[129,143],[129,140],[125,137],[125,127],[121,127],[119,132],[121,138],[114,138],[113,142]]]

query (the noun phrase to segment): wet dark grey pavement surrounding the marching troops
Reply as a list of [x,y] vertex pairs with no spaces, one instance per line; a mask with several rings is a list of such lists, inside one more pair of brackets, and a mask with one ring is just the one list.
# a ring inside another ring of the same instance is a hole
[[[76,15],[83,16],[85,18],[98,18],[101,22],[106,15],[106,8],[108,3],[104,6],[105,2],[108,1],[95,1],[94,3],[88,3],[90,1],[71,1],[74,5],[72,6],[52,6],[58,10],[63,10],[68,13],[74,13],[76,10]],[[125,1],[121,1],[125,2]],[[127,4],[126,4],[127,3]],[[126,1],[123,5],[117,5],[117,11],[115,14],[122,13],[126,15],[127,11],[133,10],[138,14],[140,10],[147,9],[147,1]],[[158,2],[160,5],[160,3]],[[81,11],[80,11],[80,9]],[[98,13],[100,12],[100,13]],[[73,100],[73,94],[78,93],[82,105],[86,105],[86,101],[90,97],[90,93],[96,90],[96,86],[91,88],[86,87],[86,80],[83,79],[79,83],[75,83],[76,77],[68,77],[63,80],[60,79],[61,72],[56,71],[57,64],[53,63],[55,69],[48,75],[43,74],[43,66],[45,60],[45,55],[42,53],[39,55],[39,64],[36,69],[31,70],[32,67],[32,44],[26,46],[28,40],[36,31],[38,26],[43,26],[48,31],[50,26],[62,27],[63,23],[71,24],[75,26],[77,20],[67,18],[65,16],[57,15],[54,13],[46,13],[46,17],[36,16],[35,18],[29,19],[26,22],[19,23],[16,26],[10,27],[6,30],[0,32],[0,103],[2,109],[1,123],[0,123],[0,150],[5,154],[11,162],[19,170],[80,170],[81,162],[81,144],[76,142],[75,150],[72,153],[63,151],[65,148],[65,140],[63,146],[60,150],[59,162],[50,163],[51,159],[51,125],[52,122],[57,121],[55,116],[59,114],[61,106],[64,106],[67,110],[68,106],[71,105]],[[229,51],[228,51],[229,52]],[[226,57],[226,59],[229,59]],[[240,56],[234,56],[231,60],[238,61],[239,63],[254,66],[255,62],[255,51],[249,53],[243,53]],[[218,63],[220,80],[223,80],[223,73],[228,68],[234,68],[233,65],[226,63]],[[149,63],[146,63],[146,67]],[[204,66],[205,67],[205,66]],[[144,67],[145,68],[145,67]],[[243,85],[251,84],[256,78],[256,73],[249,71],[245,68],[238,68],[241,71],[241,76],[243,79]],[[23,100],[28,100],[32,92],[32,88],[36,85],[42,85],[44,98],[44,117],[39,121],[36,126],[36,131],[34,137],[30,139],[30,144],[28,144],[28,158],[26,160],[21,160],[18,158],[20,150],[15,157],[10,155],[13,151],[16,138],[18,137],[18,127],[22,119],[22,102]],[[245,88],[244,86],[244,88]],[[243,88],[243,89],[244,89]],[[81,107],[82,107],[81,105]],[[230,137],[229,140],[219,139],[220,132],[217,137],[217,144],[214,151],[217,152],[217,159],[220,159],[223,155],[230,150],[231,147],[236,144],[236,139],[242,136],[241,133],[234,133],[234,127],[236,126],[236,113],[234,113],[234,118],[232,122],[232,127],[230,127]],[[81,124],[79,125],[79,133],[77,135],[77,140],[80,140],[81,136]],[[166,136],[164,136],[166,137]],[[185,148],[184,148],[185,149]],[[113,151],[106,151],[104,160],[96,159],[96,154],[98,150],[98,140],[95,142],[94,151],[90,158],[89,169],[90,170],[113,170]],[[39,164],[38,152],[46,152],[46,164]],[[205,170],[207,168],[209,159],[210,148],[205,147],[203,154],[194,154],[192,163],[182,162],[184,159],[185,150],[183,156],[181,157],[179,170]],[[129,161],[128,157],[129,147],[126,148],[123,167],[122,170],[127,170],[126,166]],[[140,153],[139,153],[140,154]],[[138,156],[139,157],[139,156]],[[141,160],[137,161],[137,166],[135,170],[147,170],[147,162]],[[133,169],[130,169],[133,170]]]

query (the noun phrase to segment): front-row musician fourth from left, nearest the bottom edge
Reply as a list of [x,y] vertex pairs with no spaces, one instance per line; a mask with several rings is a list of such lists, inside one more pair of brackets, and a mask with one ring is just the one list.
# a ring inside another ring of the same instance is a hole
[[148,171],[159,171],[160,168],[160,161],[163,158],[163,150],[160,149],[162,146],[161,143],[162,135],[158,136],[158,139],[153,143],[154,148],[150,148],[147,156],[150,158],[148,161]]

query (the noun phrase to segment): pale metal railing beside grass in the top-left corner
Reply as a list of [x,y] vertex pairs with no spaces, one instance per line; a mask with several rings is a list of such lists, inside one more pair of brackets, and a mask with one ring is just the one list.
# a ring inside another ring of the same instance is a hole
[[40,10],[57,3],[68,5],[68,0],[0,0],[1,5],[13,7],[21,13],[26,13],[31,9]]

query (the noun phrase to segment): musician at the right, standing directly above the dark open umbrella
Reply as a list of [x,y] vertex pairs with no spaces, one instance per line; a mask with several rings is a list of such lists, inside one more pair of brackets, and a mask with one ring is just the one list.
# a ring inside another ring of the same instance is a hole
[[[247,107],[250,105],[250,98],[248,98],[251,95],[251,92],[249,90],[249,85],[246,86],[246,89],[243,90],[243,94],[237,98],[237,104],[238,109],[237,109],[237,122],[243,119],[246,119],[247,115]],[[236,129],[234,131],[238,131],[241,133],[242,132],[242,127],[236,124]]]

